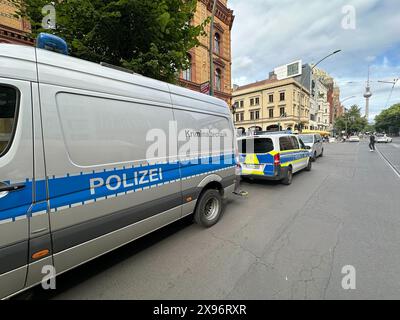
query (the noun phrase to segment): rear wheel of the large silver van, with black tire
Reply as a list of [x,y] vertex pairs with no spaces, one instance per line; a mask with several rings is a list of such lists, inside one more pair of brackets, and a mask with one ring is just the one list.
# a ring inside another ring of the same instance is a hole
[[210,228],[221,218],[222,196],[218,190],[206,190],[198,200],[194,221],[204,227]]

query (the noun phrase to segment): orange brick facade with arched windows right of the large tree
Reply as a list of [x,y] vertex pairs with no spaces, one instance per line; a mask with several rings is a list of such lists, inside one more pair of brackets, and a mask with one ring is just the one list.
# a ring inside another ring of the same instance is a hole
[[[227,7],[228,0],[217,1],[217,12],[214,21],[213,35],[213,59],[215,96],[231,104],[231,30],[234,21],[233,11]],[[201,24],[211,16],[213,0],[198,0],[197,10],[192,23]],[[191,67],[181,73],[180,83],[192,90],[201,91],[201,84],[210,80],[210,58],[209,58],[209,31],[210,25],[206,27],[207,36],[200,38],[200,46],[189,51]]]

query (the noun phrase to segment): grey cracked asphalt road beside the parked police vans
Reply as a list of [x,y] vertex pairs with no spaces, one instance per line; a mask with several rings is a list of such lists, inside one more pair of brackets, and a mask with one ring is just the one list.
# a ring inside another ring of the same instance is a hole
[[[36,299],[400,299],[400,140],[325,146],[291,186],[243,184],[218,225],[184,220],[57,280]],[[354,266],[356,289],[342,288]]]

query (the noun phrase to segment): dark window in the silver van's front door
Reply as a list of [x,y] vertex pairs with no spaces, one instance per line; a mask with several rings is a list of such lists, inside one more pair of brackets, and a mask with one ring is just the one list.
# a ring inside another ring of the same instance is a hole
[[0,157],[10,148],[17,123],[18,91],[0,84]]

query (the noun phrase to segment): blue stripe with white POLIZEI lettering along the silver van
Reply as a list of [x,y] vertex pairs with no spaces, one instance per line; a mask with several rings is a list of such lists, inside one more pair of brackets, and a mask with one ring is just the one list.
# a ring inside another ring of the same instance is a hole
[[[83,205],[87,201],[98,201],[107,197],[114,197],[128,192],[137,192],[143,189],[154,188],[158,185],[187,179],[192,176],[208,172],[228,169],[235,165],[234,155],[221,155],[203,159],[190,160],[190,162],[155,164],[124,169],[107,170],[103,172],[81,173],[80,175],[49,179],[50,209],[57,211],[61,208]],[[152,171],[153,170],[153,171]],[[161,170],[161,174],[160,171]],[[147,172],[145,176],[143,172]],[[149,173],[153,172],[153,176]],[[136,175],[136,179],[135,179]],[[111,179],[110,179],[111,177]],[[112,178],[114,177],[114,178]],[[120,181],[118,178],[120,178]],[[90,190],[92,179],[110,179],[110,184]],[[142,179],[142,181],[140,181]],[[139,183],[143,182],[143,183]],[[110,190],[112,189],[112,190]],[[36,182],[37,199],[44,201],[45,181]],[[12,192],[0,199],[0,221],[23,217],[36,212],[45,211],[45,204],[34,205],[32,202],[32,181],[26,181],[26,187],[20,191]],[[18,204],[18,207],[16,207]]]

